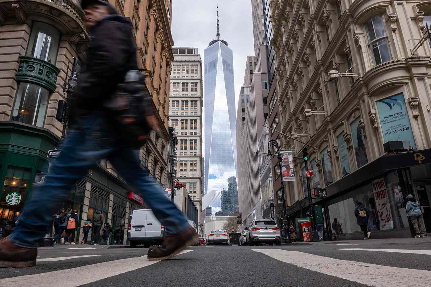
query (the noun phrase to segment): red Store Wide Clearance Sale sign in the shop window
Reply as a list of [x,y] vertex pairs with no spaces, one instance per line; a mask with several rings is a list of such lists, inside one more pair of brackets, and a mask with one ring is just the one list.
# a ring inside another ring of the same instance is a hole
[[392,214],[390,213],[389,197],[387,196],[384,179],[381,178],[373,181],[372,188],[378,219],[380,220],[380,230],[394,228]]

